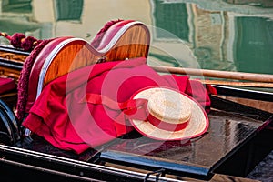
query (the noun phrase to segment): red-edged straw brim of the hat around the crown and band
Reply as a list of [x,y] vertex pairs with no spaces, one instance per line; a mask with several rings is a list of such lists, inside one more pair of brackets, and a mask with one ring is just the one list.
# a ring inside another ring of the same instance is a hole
[[[144,98],[148,100],[149,96],[155,92],[162,91],[162,89],[179,92],[167,87],[146,87],[136,92],[136,94],[132,96],[132,99]],[[183,96],[186,96],[189,102],[192,104],[192,115],[189,122],[187,123],[186,128],[178,131],[167,131],[153,126],[148,121],[136,119],[130,119],[131,125],[134,126],[136,130],[143,136],[148,136],[157,140],[184,140],[203,135],[209,126],[206,111],[193,98],[185,95],[184,93],[179,93]]]

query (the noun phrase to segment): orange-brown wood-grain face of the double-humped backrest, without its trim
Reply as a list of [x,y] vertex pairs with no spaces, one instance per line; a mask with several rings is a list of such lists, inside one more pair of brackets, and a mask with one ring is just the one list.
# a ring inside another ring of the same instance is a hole
[[84,41],[74,41],[63,47],[48,67],[44,86],[58,76],[97,62],[147,57],[149,32],[145,25],[132,25],[106,52],[97,51]]

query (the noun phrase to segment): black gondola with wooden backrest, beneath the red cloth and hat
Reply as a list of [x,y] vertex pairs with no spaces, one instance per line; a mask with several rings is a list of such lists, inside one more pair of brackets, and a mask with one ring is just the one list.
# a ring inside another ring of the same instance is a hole
[[[26,86],[0,95],[1,180],[250,181],[249,172],[273,149],[268,139],[273,135],[273,116],[263,107],[272,104],[269,92],[213,85],[217,92],[209,95],[207,131],[183,141],[158,142],[133,130],[76,154],[42,136],[27,135],[31,131],[21,125],[22,120],[56,78],[107,62],[147,59],[146,25],[134,20],[107,25],[90,44],[67,36],[40,43],[31,51],[0,47],[1,76],[15,84],[28,78]],[[28,65],[31,71],[25,71],[26,61],[33,61]],[[25,107],[16,110],[25,92]]]

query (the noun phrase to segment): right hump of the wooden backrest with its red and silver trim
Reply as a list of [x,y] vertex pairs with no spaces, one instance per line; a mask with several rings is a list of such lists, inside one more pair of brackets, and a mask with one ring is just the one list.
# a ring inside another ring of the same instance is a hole
[[141,22],[127,21],[112,25],[97,51],[105,54],[106,61],[125,60],[147,57],[149,45],[150,34],[147,26]]

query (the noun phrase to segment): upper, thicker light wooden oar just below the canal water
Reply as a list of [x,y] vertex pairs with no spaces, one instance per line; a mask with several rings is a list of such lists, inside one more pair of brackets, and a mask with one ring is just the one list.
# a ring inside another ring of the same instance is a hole
[[157,72],[181,74],[189,76],[205,76],[205,77],[217,77],[235,80],[248,80],[254,82],[267,82],[273,83],[273,75],[268,74],[254,74],[232,71],[217,71],[209,69],[196,69],[196,68],[182,68],[172,66],[151,66]]

